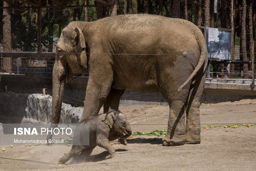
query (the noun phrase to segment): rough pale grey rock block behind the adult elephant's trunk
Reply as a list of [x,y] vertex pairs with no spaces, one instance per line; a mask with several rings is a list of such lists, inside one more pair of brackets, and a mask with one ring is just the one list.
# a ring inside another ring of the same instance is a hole
[[[32,94],[28,96],[26,114],[21,123],[50,123],[52,98],[50,95]],[[62,103],[60,123],[78,123],[82,109]]]

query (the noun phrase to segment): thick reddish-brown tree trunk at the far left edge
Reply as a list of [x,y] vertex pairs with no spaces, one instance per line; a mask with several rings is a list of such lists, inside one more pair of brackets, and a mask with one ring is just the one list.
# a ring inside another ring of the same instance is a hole
[[[9,4],[3,1],[3,6],[8,7]],[[12,51],[11,14],[8,8],[3,9],[3,51]],[[3,58],[3,68],[1,70],[12,73],[12,58]]]

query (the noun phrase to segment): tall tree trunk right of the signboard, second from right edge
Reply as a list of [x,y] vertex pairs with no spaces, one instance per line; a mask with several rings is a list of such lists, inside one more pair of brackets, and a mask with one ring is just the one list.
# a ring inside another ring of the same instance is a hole
[[[248,61],[246,54],[246,0],[242,0],[242,31],[241,31],[241,55],[243,61]],[[242,70],[244,71],[244,78],[249,78],[248,76],[248,64],[243,64]]]

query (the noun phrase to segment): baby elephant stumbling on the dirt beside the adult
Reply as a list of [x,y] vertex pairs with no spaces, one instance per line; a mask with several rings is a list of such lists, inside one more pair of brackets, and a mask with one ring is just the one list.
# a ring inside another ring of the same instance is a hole
[[[89,145],[83,145],[83,142],[86,141],[84,139],[86,136],[83,134],[83,123],[89,125]],[[59,159],[59,164],[65,164],[70,158],[80,153],[88,156],[97,145],[106,149],[111,155],[111,158],[113,158],[116,152],[109,141],[120,138],[120,143],[126,145],[125,139],[128,138],[131,133],[131,127],[127,118],[118,111],[89,116],[89,118],[83,120],[80,125],[78,125],[74,134],[72,149],[68,154],[65,154]],[[77,145],[78,141],[80,141],[82,145]]]

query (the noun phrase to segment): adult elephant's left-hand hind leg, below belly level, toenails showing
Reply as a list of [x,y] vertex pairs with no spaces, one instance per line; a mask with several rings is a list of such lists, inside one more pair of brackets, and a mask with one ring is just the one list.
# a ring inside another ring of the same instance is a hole
[[164,146],[185,144],[185,105],[181,100],[170,105],[167,134],[162,141]]

